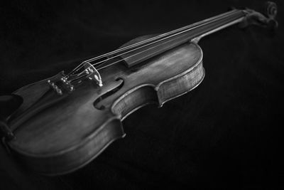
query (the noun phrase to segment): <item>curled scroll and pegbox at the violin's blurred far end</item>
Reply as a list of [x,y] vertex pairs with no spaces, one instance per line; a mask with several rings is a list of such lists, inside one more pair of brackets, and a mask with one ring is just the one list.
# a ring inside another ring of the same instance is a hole
[[251,24],[272,29],[278,27],[278,22],[275,20],[277,15],[277,5],[272,1],[266,2],[265,14],[253,11],[252,9],[245,9],[244,12],[246,13],[246,17],[244,18],[244,21],[239,23],[241,28],[245,28]]

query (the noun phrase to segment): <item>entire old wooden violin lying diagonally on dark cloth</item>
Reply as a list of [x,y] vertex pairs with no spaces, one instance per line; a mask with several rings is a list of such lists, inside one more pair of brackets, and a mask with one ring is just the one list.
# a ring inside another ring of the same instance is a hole
[[204,36],[234,24],[276,28],[277,6],[266,14],[232,9],[158,35],[141,36],[101,56],[13,92],[16,106],[1,115],[2,142],[28,169],[67,174],[125,136],[121,121],[148,104],[189,93],[204,79]]

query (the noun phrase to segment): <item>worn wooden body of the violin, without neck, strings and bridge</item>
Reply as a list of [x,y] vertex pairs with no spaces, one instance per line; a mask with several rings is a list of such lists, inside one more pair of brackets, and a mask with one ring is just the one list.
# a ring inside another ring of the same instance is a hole
[[50,90],[48,79],[16,90],[23,104],[9,120],[16,136],[9,142],[13,154],[42,174],[84,166],[125,136],[121,121],[131,112],[151,103],[161,107],[199,85],[204,78],[202,50],[189,41],[132,68],[114,65],[101,76],[102,88],[86,80],[62,97]]

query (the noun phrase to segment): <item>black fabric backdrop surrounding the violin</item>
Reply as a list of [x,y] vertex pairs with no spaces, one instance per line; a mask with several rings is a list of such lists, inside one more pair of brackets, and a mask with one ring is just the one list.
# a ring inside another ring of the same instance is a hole
[[[137,36],[264,1],[1,2],[0,90],[9,94]],[[236,26],[200,41],[202,84],[124,120],[126,137],[72,174],[31,174],[0,147],[0,189],[283,187],[283,2],[271,33]]]

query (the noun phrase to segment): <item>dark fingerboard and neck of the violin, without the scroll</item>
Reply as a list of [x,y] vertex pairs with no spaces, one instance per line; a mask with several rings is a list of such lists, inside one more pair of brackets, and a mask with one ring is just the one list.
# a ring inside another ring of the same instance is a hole
[[241,22],[245,16],[245,11],[233,10],[189,26],[178,28],[175,31],[163,33],[155,38],[150,38],[150,41],[147,41],[147,43],[141,43],[139,46],[135,46],[129,53],[122,53],[121,58],[124,59],[128,67],[132,67],[171,48],[180,46],[187,41],[197,43],[200,38],[210,33],[219,31],[234,23]]

